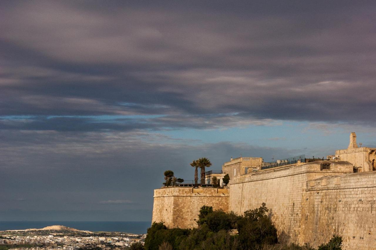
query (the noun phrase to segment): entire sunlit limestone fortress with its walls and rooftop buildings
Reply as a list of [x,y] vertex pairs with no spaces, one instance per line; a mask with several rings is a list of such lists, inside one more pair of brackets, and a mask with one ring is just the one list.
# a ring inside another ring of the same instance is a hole
[[191,228],[203,205],[243,214],[265,202],[280,239],[317,246],[337,234],[343,249],[376,250],[375,152],[351,133],[348,148],[327,159],[231,158],[227,187],[154,190],[152,221]]

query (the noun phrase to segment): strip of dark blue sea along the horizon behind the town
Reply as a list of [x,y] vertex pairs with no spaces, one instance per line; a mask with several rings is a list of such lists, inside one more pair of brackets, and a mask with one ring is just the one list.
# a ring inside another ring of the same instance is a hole
[[151,221],[0,221],[0,231],[43,228],[53,225],[73,227],[92,232],[146,233]]

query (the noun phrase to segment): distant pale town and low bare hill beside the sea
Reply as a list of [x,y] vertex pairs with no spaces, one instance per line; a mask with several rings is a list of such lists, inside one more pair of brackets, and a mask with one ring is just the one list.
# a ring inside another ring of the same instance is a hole
[[0,231],[0,250],[123,250],[146,234],[90,232],[65,226]]

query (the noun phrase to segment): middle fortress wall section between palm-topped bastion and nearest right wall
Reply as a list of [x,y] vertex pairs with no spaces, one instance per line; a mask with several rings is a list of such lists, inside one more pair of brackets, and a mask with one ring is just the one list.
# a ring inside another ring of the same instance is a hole
[[[310,203],[309,199],[307,200],[307,181],[322,176],[353,172],[352,164],[347,162],[331,162],[330,170],[321,170],[321,163],[324,161],[277,167],[239,176],[230,182],[229,209],[243,214],[244,211],[257,208],[265,202],[280,235],[285,235],[287,240],[291,239],[300,244],[315,244],[317,242],[307,238],[312,232],[305,230],[311,223],[307,222],[308,217],[312,216],[312,213],[308,212]],[[327,237],[331,236],[329,234]]]

